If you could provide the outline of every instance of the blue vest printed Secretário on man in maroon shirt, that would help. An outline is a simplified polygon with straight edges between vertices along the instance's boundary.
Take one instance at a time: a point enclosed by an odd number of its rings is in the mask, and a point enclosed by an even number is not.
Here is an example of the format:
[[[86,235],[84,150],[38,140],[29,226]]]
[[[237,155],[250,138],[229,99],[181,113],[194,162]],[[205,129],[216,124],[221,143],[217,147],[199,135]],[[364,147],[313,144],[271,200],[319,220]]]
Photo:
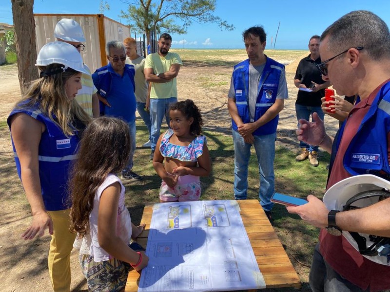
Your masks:
[[[337,137],[338,148],[345,124]],[[390,131],[390,82],[376,95],[356,135],[345,152],[343,165],[351,175],[374,174],[390,179],[388,139]]]

